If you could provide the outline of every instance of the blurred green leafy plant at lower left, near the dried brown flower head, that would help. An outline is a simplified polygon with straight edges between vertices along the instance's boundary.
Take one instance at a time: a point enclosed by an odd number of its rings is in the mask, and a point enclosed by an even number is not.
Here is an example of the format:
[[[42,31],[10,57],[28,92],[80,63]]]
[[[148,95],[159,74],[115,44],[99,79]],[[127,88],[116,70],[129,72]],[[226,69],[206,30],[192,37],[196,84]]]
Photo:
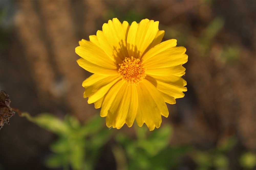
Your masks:
[[[92,169],[97,161],[99,149],[105,145],[113,132],[102,128],[103,119],[98,116],[81,125],[77,118],[70,115],[66,115],[64,120],[49,113],[36,117],[31,117],[28,113],[22,115],[58,135],[57,141],[50,145],[53,154],[46,160],[46,166],[50,168],[69,169],[71,166],[72,169]]]

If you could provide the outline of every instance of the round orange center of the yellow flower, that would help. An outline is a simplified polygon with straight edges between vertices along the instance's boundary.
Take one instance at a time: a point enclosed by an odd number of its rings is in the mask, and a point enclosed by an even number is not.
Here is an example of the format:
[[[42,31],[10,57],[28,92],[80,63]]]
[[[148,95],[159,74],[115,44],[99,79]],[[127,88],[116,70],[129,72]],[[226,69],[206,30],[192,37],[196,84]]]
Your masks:
[[[128,85],[138,84],[145,78],[145,68],[138,58],[125,58],[122,64],[118,64],[118,75],[125,80]]]

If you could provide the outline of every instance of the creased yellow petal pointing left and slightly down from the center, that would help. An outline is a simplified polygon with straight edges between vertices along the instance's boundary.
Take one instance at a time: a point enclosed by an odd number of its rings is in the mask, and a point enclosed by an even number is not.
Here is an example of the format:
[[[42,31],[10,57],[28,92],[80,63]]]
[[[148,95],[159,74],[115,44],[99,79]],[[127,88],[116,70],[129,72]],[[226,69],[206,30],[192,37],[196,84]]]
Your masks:
[[[120,77],[117,75],[91,75],[89,78],[83,81],[82,84],[82,86],[85,87],[84,98],[89,97],[89,104],[100,100],[118,80],[120,80]],[[99,103],[96,105],[96,107],[98,107]]]

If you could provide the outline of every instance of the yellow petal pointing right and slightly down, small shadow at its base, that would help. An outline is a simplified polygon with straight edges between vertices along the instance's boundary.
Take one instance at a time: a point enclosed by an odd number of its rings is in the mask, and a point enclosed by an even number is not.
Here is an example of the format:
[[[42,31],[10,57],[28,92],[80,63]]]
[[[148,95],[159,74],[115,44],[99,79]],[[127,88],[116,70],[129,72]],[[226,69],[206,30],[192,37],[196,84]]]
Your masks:
[[[179,76],[146,76],[145,79],[150,81],[164,95],[165,102],[174,104],[173,99],[184,97],[183,91],[187,91],[184,87],[187,82]],[[168,97],[169,96],[169,97]]]

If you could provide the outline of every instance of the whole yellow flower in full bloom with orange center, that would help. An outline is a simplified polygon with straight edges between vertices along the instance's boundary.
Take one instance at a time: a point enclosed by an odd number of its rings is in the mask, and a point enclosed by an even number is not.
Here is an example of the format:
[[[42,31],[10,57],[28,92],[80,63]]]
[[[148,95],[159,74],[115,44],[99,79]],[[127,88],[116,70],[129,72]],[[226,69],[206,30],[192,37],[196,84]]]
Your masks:
[[[182,64],[188,56],[185,47],[176,47],[177,40],[161,43],[164,31],[159,22],[143,19],[128,24],[117,18],[104,23],[102,31],[79,41],[76,53],[80,67],[93,73],[83,81],[83,97],[100,108],[106,125],[120,129],[145,123],[150,130],[167,117],[166,103],[184,97],[187,82]],[[165,103],[166,102],[166,103]]]

